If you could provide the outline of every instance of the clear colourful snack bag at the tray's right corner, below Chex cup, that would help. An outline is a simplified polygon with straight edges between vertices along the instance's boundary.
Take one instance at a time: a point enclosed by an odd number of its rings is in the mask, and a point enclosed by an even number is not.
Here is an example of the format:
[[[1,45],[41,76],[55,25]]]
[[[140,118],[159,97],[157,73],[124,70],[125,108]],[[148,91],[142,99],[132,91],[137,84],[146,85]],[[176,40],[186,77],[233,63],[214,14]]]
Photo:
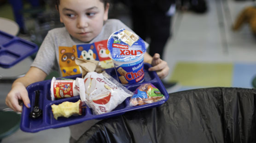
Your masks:
[[[164,95],[151,83],[140,85],[130,99],[130,106],[149,104],[164,100]]]

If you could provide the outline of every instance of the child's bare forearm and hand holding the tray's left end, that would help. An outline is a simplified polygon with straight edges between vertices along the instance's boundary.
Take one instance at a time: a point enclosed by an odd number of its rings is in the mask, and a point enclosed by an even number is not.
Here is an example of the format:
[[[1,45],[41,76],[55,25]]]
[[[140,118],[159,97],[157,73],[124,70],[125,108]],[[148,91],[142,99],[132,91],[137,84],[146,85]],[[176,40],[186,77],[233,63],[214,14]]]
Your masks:
[[[6,105],[14,111],[22,111],[22,106],[19,101],[30,108],[30,101],[26,87],[34,82],[39,82],[45,79],[47,74],[37,67],[30,67],[29,71],[24,77],[20,77],[12,84],[12,89],[6,97]]]

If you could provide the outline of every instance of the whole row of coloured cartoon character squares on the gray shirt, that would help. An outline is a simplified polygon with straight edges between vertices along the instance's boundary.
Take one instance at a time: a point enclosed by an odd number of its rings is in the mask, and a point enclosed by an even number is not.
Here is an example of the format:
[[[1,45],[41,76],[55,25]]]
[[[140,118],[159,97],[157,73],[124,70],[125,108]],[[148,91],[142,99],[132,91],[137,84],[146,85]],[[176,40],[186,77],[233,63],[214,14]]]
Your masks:
[[[76,65],[77,57],[85,60],[99,60],[99,66],[103,68],[114,67],[107,48],[107,41],[103,40],[93,44],[79,44],[72,47],[59,46],[59,66],[62,76],[80,74],[81,69]]]

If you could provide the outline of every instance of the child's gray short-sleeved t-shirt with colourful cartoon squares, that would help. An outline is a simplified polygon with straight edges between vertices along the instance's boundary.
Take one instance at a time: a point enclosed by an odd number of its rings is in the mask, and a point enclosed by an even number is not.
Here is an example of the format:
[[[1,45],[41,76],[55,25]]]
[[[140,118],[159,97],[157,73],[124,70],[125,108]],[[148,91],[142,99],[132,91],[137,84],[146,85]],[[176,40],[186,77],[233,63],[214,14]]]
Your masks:
[[[97,47],[106,47],[106,42],[110,35],[117,30],[125,28],[129,31],[132,31],[121,21],[116,19],[109,19],[105,22],[101,32],[92,41],[89,43],[81,42],[80,40],[71,37],[66,28],[55,28],[48,32],[46,38],[44,39],[41,47],[36,55],[36,58],[31,66],[40,68],[42,71],[49,74],[52,70],[56,70],[60,73],[61,77],[68,76],[67,72],[72,72],[71,75],[79,74],[79,69],[76,69],[74,66],[74,60],[70,60],[69,63],[64,62],[60,56],[67,55],[67,58],[71,58],[70,55],[75,55],[75,57],[81,57],[81,49],[88,48],[93,45],[95,49]],[[140,35],[139,35],[140,36]],[[146,47],[148,44],[145,42]],[[75,50],[75,52],[74,52]],[[94,50],[99,51],[99,49]],[[74,57],[73,57],[74,58]],[[95,60],[106,60],[104,58],[99,58]],[[70,64],[71,65],[68,65]],[[72,65],[73,64],[73,65]],[[67,67],[70,66],[70,67]],[[75,65],[77,66],[77,65]],[[74,70],[76,69],[76,70]],[[76,72],[75,72],[76,71]],[[74,139],[78,139],[87,129],[93,126],[99,120],[89,120],[84,121],[80,124],[70,126],[70,134]]]

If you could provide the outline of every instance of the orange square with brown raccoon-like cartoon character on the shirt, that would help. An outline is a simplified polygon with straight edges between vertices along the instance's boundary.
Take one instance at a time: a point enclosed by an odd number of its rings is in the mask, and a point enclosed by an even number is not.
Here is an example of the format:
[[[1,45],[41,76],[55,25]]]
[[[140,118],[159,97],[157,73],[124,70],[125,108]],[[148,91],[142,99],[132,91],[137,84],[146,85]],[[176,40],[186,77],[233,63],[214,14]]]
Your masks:
[[[59,66],[63,77],[81,73],[80,67],[75,63],[76,57],[76,45],[59,47]]]

